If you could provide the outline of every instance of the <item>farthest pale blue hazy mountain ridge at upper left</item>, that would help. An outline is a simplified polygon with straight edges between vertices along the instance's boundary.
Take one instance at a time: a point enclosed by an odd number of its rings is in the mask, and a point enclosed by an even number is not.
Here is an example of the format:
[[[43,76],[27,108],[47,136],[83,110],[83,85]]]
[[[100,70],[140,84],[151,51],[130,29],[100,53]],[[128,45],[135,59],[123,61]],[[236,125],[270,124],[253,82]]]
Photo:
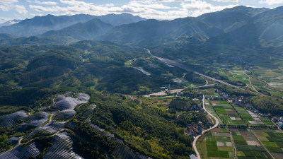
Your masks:
[[[134,23],[144,20],[144,18],[132,16],[131,14],[126,13],[120,15],[109,14],[105,16],[91,16],[86,14],[74,16],[35,16],[35,18],[25,19],[13,25],[3,26],[0,28],[0,33],[17,35],[19,37],[40,35],[49,30],[60,30],[76,23],[86,23],[88,20],[93,18],[98,18],[105,23],[110,23],[111,25]]]

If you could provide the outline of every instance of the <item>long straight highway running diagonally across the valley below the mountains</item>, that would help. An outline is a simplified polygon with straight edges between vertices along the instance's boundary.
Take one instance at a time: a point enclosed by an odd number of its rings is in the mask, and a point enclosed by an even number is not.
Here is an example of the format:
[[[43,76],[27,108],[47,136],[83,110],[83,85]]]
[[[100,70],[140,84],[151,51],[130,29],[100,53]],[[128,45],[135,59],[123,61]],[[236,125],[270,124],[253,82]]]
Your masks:
[[[154,56],[154,55],[151,54],[151,52],[149,51],[149,49],[146,49],[146,50],[147,50],[147,52],[148,52],[152,57],[156,57],[156,56]],[[192,71],[193,73],[196,73],[197,75],[200,75],[200,76],[202,76],[202,77],[204,77],[204,78],[208,78],[208,79],[210,79],[210,80],[212,80],[212,81],[216,81],[216,82],[222,83],[222,84],[224,84],[224,85],[231,86],[231,87],[233,87],[233,88],[243,89],[243,88],[241,88],[241,87],[233,86],[233,85],[231,85],[231,84],[229,84],[229,83],[226,83],[226,82],[224,82],[224,81],[218,80],[218,79],[216,79],[216,78],[209,77],[209,76],[204,75],[204,74],[202,74],[202,73],[200,73],[200,72],[193,71],[193,70],[190,69],[188,66],[185,66],[184,64],[180,64],[180,63],[178,63],[178,62],[176,62],[176,61],[173,61],[173,60],[171,60],[171,59],[164,59],[164,58],[162,58],[162,57],[156,57],[156,58],[159,59],[160,61],[163,61],[165,64],[170,64],[170,65],[172,65],[172,66],[178,66],[178,67],[180,67],[181,69],[185,69],[186,71]]]

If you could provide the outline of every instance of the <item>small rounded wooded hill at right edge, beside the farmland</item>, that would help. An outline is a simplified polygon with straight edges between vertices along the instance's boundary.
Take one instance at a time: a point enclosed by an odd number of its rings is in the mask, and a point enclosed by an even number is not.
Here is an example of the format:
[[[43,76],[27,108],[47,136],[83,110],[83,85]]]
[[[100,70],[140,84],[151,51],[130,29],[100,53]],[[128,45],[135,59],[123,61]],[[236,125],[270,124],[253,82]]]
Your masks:
[[[283,114],[283,100],[270,96],[257,96],[251,98],[253,107],[260,110],[260,112],[270,113],[274,115]]]

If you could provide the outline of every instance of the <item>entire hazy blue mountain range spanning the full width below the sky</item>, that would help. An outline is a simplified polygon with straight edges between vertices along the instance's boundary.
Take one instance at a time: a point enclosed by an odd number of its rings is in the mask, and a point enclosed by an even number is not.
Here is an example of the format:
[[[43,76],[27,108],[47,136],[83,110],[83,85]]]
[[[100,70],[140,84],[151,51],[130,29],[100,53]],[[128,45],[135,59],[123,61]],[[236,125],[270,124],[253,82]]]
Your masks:
[[[79,40],[109,40],[139,46],[172,42],[281,46],[283,7],[274,9],[236,6],[215,13],[175,20],[145,20],[127,13],[107,16],[43,16],[0,28],[1,44],[60,44]],[[21,37],[15,39],[14,36]],[[37,37],[28,37],[37,36]],[[23,38],[27,37],[27,38]],[[33,41],[33,39],[35,41]],[[30,43],[29,43],[30,42]]]

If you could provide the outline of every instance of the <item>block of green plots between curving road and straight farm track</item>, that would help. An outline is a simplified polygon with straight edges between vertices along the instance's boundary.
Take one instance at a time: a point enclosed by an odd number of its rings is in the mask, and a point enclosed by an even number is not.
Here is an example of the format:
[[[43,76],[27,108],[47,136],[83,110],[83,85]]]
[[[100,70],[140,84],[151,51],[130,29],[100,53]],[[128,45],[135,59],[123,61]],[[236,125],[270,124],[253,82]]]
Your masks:
[[[202,158],[233,158],[233,146],[228,130],[213,129],[197,141]]]

